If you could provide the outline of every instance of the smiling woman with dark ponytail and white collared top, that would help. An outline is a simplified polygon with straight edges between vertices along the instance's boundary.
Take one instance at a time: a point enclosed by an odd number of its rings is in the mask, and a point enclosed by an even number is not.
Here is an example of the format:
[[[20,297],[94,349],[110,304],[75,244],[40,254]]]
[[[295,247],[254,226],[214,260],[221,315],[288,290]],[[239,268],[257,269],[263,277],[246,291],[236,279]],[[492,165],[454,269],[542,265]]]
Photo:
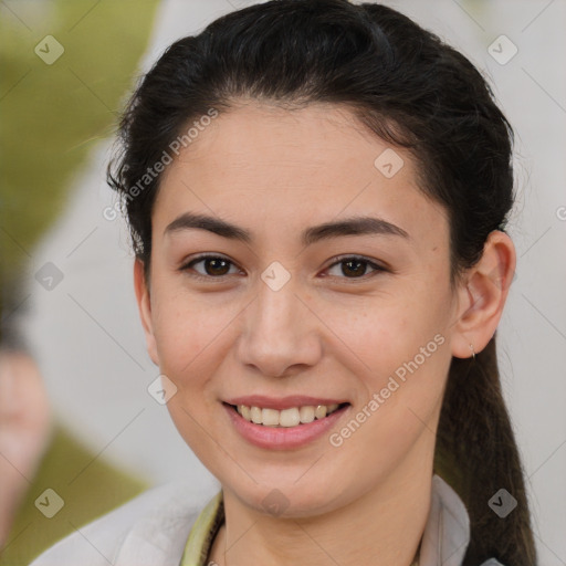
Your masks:
[[[512,129],[390,8],[253,6],[172,44],[109,168],[156,391],[221,483],[44,564],[533,565],[495,332]]]

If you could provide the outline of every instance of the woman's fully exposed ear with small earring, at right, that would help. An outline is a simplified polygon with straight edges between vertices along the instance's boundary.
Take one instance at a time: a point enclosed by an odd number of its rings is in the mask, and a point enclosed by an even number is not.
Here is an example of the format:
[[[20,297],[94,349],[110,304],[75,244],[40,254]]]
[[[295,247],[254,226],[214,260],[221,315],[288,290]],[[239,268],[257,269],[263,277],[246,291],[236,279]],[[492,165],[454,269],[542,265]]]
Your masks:
[[[451,337],[452,355],[469,358],[495,334],[516,265],[511,238],[494,230],[488,237],[480,261],[470,268],[459,287],[459,311]],[[473,350],[472,350],[473,347]]]

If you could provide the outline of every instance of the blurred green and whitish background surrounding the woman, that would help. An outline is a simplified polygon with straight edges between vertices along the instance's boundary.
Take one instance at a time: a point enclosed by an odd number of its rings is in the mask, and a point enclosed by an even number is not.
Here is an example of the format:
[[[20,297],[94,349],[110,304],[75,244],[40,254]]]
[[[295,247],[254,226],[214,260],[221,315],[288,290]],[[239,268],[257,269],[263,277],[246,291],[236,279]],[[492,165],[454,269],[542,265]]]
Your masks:
[[[187,478],[196,503],[218,490],[167,408],[148,394],[159,371],[145,349],[127,229],[105,167],[117,115],[139,75],[174,40],[250,3],[0,2],[1,324],[10,328],[7,344],[35,360],[56,430],[83,450],[69,461],[70,452],[53,453],[51,472],[38,461],[20,473],[29,492],[1,564],[27,564],[22,548],[39,533],[46,535],[36,552],[88,518],[80,507],[96,516],[146,486]],[[566,565],[566,1],[382,3],[479,66],[515,128],[517,203],[509,231],[518,261],[499,356],[541,564]],[[0,408],[10,395],[0,387]],[[0,471],[10,465],[1,439]],[[40,465],[43,481],[32,483]],[[88,495],[101,478],[107,500]],[[64,500],[56,516],[66,516],[51,533],[55,517],[48,521],[38,503],[49,488]]]

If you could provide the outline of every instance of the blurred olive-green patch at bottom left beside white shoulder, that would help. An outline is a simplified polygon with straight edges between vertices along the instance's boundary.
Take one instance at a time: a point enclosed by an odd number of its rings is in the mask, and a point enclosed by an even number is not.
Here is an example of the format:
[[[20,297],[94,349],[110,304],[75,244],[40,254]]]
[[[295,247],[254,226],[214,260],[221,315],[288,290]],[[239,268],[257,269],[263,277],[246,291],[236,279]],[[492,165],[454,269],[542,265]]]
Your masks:
[[[55,424],[51,443],[0,554],[0,566],[28,566],[75,528],[122,505],[148,486],[145,480],[104,461],[104,457],[97,457],[61,424]],[[56,495],[44,494],[48,489]],[[60,504],[57,496],[63,500],[63,506],[48,518],[41,510],[50,506],[55,510]]]

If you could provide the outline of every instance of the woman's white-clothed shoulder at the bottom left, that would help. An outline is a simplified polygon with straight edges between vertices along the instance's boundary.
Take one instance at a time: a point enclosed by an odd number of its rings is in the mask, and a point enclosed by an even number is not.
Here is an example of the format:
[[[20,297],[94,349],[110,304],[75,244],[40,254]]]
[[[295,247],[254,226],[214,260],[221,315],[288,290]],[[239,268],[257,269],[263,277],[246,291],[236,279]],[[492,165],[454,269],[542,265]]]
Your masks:
[[[200,512],[190,493],[179,482],[147,490],[76,528],[30,566],[177,566]]]

